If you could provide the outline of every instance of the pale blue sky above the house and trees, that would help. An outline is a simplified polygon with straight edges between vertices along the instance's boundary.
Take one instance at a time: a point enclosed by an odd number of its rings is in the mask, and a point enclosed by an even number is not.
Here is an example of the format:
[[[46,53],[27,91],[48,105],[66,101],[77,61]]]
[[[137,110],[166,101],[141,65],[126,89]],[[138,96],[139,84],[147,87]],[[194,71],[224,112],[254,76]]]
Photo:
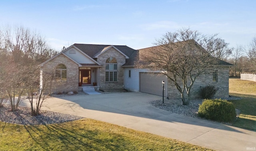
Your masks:
[[[74,43],[153,46],[183,28],[246,46],[256,36],[256,0],[2,0],[0,25],[40,32],[52,48]]]

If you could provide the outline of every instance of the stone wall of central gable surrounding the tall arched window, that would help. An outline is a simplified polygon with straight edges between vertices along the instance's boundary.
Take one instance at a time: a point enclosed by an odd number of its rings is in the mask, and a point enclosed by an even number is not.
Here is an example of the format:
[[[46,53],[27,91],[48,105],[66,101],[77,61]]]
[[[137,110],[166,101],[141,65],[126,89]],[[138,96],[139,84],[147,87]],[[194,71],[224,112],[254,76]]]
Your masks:
[[[109,57],[114,57],[117,60],[117,81],[113,82],[106,82],[105,81],[105,64],[106,60]],[[103,68],[100,68],[100,89],[106,90],[106,89],[123,89],[124,85],[124,68],[122,68],[122,65],[125,64],[126,58],[124,55],[122,55],[120,52],[118,52],[114,48],[110,48],[100,56],[98,56],[97,59],[98,63],[100,63]]]

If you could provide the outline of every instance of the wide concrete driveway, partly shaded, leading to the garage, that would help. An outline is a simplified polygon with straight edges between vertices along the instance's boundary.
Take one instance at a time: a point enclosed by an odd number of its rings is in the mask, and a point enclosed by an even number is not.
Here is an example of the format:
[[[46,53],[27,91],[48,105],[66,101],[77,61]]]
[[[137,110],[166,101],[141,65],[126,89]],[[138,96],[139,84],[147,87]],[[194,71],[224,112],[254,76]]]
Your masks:
[[[42,109],[96,119],[221,151],[246,151],[247,147],[256,147],[255,131],[178,115],[149,104],[161,98],[140,92],[74,95],[46,99]]]

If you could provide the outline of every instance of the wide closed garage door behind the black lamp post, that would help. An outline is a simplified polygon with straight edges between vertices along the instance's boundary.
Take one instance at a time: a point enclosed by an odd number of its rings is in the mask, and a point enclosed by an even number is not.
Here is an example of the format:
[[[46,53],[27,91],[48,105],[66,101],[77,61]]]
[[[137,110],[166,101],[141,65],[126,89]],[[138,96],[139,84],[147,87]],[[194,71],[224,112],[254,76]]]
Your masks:
[[[162,81],[166,81],[166,76],[157,73],[140,72],[140,91],[154,95],[163,95]],[[164,89],[166,89],[164,85]],[[166,90],[164,90],[166,96]]]

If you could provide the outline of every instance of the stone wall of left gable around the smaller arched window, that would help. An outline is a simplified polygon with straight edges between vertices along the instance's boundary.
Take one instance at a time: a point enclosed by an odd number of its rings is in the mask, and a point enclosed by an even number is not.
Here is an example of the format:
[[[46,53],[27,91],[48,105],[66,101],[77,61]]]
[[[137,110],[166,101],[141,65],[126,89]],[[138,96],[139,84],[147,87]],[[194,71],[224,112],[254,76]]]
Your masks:
[[[43,67],[44,72],[55,72],[56,66],[58,64],[64,64],[67,68],[67,81],[66,82],[56,82],[52,83],[52,89],[47,89],[46,92],[58,93],[58,92],[68,92],[68,91],[78,91],[79,82],[79,70],[78,64],[74,63],[72,60],[60,54],[56,58],[50,60]]]

